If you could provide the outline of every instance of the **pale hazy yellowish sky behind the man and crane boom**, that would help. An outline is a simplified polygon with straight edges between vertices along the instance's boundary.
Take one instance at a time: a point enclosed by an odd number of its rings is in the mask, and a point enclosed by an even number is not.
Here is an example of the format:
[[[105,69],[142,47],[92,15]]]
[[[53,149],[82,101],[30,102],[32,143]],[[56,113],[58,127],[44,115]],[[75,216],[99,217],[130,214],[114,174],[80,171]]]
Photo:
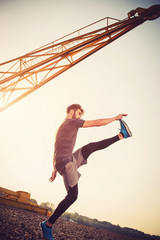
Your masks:
[[[0,62],[21,56],[104,17],[124,19],[159,0],[0,0]],[[133,137],[96,152],[79,171],[78,200],[68,209],[160,235],[160,18],[147,21],[0,113],[0,186],[38,203],[64,198],[52,173],[54,137],[68,105],[84,120],[124,119]],[[75,150],[119,133],[115,121],[80,129]]]

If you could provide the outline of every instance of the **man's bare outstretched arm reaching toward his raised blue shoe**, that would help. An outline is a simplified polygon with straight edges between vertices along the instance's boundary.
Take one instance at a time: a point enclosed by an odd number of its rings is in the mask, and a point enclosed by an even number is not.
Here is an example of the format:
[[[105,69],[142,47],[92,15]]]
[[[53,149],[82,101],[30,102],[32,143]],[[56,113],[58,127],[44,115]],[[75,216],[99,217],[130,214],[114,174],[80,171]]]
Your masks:
[[[104,118],[104,119],[96,119],[96,120],[91,120],[91,121],[85,121],[83,124],[83,128],[87,128],[87,127],[100,127],[100,126],[104,126],[107,125],[111,122],[114,122],[115,120],[120,120],[123,117],[126,117],[127,114],[119,114],[116,117],[113,118]]]

